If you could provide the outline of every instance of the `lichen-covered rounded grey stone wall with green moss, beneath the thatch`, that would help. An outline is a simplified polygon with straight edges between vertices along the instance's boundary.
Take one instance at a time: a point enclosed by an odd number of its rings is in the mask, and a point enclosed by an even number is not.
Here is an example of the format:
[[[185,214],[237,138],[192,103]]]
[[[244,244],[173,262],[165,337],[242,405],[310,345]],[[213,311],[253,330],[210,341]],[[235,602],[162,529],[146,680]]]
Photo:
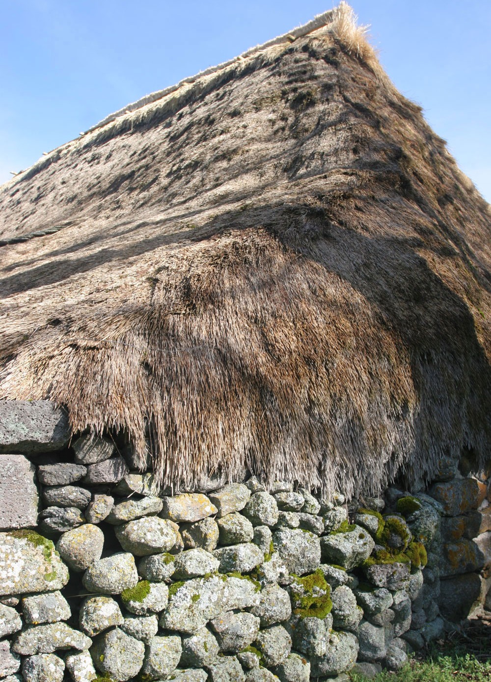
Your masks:
[[[491,598],[490,480],[466,458],[349,508],[255,477],[170,494],[124,444],[70,441],[52,404],[5,401],[0,453],[9,682],[395,670]]]

